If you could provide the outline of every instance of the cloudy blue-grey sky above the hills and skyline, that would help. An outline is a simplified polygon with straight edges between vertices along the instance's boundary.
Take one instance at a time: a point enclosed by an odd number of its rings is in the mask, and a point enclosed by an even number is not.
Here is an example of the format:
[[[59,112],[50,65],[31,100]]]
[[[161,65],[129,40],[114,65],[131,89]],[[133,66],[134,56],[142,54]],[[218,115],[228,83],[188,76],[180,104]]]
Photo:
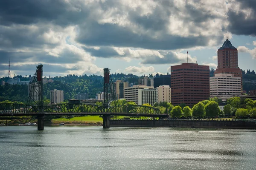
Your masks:
[[[256,0],[1,0],[0,77],[215,69],[227,38],[256,70]]]

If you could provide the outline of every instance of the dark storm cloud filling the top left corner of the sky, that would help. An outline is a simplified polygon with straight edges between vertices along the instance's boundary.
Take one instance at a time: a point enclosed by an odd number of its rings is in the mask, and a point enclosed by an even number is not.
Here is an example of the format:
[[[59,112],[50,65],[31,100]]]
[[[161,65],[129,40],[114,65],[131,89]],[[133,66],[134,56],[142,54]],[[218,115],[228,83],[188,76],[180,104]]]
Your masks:
[[[73,3],[72,3],[73,2]],[[71,10],[77,9],[77,10]],[[67,26],[85,17],[75,1],[66,3],[64,0],[1,0],[1,25],[25,24],[53,21],[58,25]]]

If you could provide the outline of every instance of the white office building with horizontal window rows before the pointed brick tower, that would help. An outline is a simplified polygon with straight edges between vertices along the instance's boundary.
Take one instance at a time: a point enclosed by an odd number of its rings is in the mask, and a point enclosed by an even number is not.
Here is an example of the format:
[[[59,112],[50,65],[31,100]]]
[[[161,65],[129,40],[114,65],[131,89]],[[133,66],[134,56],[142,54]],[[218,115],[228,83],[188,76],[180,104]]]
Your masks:
[[[218,97],[222,102],[241,95],[241,77],[233,74],[215,74],[210,77],[210,97]]]

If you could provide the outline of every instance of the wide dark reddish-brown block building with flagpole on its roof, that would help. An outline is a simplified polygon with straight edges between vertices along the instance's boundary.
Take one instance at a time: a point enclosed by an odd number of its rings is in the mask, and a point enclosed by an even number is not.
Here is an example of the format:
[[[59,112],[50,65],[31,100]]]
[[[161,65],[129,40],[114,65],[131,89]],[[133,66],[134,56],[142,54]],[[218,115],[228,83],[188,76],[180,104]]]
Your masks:
[[[188,106],[209,99],[209,65],[182,63],[171,66],[172,105]]]

